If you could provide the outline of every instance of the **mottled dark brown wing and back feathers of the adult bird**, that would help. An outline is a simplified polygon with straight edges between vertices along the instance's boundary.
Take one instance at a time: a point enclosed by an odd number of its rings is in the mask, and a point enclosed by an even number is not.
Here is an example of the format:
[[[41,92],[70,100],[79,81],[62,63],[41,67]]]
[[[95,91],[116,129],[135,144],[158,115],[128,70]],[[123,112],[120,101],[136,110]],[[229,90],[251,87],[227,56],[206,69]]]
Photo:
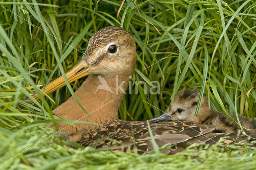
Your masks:
[[[150,124],[150,128],[158,147],[167,147],[166,150],[162,151],[164,154],[181,152],[193,143],[215,144],[224,136],[237,138],[236,133],[214,133],[215,126],[213,125],[191,122],[158,122]],[[227,144],[232,142],[232,140],[227,141]],[[78,143],[94,148],[113,147],[113,152],[130,152],[133,150],[138,154],[144,154],[154,150],[146,122],[116,120],[99,128],[95,133],[84,133],[83,138]]]

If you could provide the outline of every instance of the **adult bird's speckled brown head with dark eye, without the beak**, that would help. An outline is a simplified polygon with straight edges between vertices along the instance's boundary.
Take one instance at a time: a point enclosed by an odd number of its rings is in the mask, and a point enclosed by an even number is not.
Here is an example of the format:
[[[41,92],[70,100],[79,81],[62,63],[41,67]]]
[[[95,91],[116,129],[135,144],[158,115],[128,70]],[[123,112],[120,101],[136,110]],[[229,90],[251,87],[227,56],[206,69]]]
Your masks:
[[[96,32],[89,41],[81,62],[94,74],[126,74],[134,70],[136,44],[124,28],[108,26]]]

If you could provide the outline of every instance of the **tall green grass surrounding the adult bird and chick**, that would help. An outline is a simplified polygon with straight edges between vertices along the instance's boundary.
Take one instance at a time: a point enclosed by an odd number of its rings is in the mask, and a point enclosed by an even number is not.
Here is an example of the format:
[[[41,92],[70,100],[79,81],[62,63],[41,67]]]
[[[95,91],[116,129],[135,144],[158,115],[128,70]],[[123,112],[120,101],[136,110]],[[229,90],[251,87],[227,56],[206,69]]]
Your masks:
[[[54,134],[51,110],[71,93],[64,87],[26,104],[40,88],[76,64],[89,38],[105,26],[135,38],[132,94],[119,113],[148,120],[166,110],[178,90],[198,88],[211,108],[254,118],[256,112],[256,1],[5,1],[0,2],[0,169],[256,169],[246,143],[188,148],[173,156],[80,148]],[[73,90],[84,79],[71,83]],[[147,82],[146,94],[140,80]],[[149,94],[151,81],[160,94]],[[139,93],[135,93],[135,83]],[[22,103],[25,108],[17,108]],[[242,158],[243,157],[243,158]]]

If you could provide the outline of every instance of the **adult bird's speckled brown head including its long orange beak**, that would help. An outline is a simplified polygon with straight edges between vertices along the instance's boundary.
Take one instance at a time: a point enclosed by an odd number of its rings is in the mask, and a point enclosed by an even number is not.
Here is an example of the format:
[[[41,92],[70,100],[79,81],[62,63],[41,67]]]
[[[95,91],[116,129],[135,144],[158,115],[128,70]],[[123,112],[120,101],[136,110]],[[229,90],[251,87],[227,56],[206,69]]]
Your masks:
[[[68,82],[73,82],[88,74],[132,75],[135,62],[136,44],[132,35],[122,27],[108,26],[90,38],[82,60],[66,73],[66,77]],[[60,76],[42,90],[49,94],[65,85],[64,77]]]

